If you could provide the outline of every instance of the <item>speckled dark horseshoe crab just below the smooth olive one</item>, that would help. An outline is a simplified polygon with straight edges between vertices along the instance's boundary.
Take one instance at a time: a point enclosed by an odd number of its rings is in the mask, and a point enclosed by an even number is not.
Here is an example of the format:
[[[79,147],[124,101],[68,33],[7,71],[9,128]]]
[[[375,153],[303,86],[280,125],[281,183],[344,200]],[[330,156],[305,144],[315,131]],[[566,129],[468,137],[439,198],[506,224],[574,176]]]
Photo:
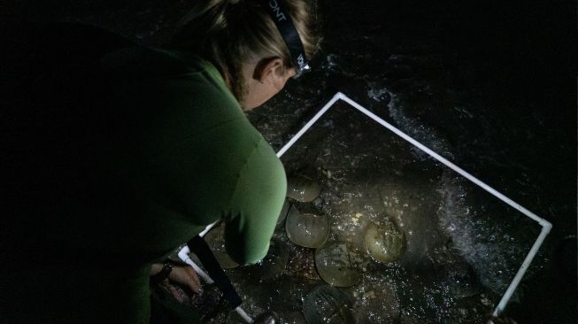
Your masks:
[[[315,266],[321,279],[328,284],[350,287],[361,279],[367,260],[351,243],[335,242],[315,251]]]

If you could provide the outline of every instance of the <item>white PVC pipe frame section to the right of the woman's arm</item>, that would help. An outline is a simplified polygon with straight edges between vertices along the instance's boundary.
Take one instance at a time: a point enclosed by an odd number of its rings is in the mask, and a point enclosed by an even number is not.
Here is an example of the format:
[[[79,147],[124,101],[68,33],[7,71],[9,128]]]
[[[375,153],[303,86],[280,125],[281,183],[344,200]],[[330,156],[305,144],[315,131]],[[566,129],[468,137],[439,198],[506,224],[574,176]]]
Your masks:
[[[449,160],[447,160],[446,158],[443,158],[442,156],[440,156],[439,154],[435,153],[433,150],[429,150],[426,146],[424,146],[423,144],[419,143],[418,141],[414,140],[412,137],[410,137],[409,135],[406,135],[404,132],[400,131],[399,129],[397,129],[396,127],[393,127],[391,124],[389,124],[388,122],[386,122],[385,120],[381,120],[381,118],[379,118],[378,116],[376,116],[373,112],[368,111],[366,108],[362,107],[361,105],[359,105],[358,103],[354,102],[353,100],[351,100],[348,96],[343,95],[343,93],[341,92],[337,92],[335,94],[335,96],[333,96],[333,98],[331,100],[329,100],[329,102],[327,104],[325,104],[323,106],[323,108],[321,108],[321,110],[319,112],[317,112],[315,114],[315,116],[313,116],[313,118],[311,120],[309,120],[305,126],[303,128],[301,128],[301,130],[299,130],[297,132],[296,135],[294,135],[291,140],[289,141],[289,143],[285,144],[281,150],[279,150],[277,152],[277,157],[281,158],[281,156],[283,154],[285,154],[285,152],[287,150],[289,150],[289,148],[291,146],[293,146],[293,144],[295,144],[297,142],[297,140],[304,135],[304,133],[310,128],[312,127],[312,125],[320,119],[320,117],[328,111],[329,108],[331,108],[331,106],[333,104],[335,104],[335,102],[337,102],[337,100],[343,100],[344,102],[346,102],[347,104],[351,104],[351,106],[353,106],[353,108],[357,109],[359,112],[363,112],[364,114],[366,114],[366,116],[368,116],[369,118],[371,118],[372,120],[375,120],[377,123],[379,123],[381,126],[388,128],[390,131],[394,132],[396,135],[399,135],[401,138],[405,139],[405,141],[412,143],[414,146],[416,146],[418,149],[423,150],[424,152],[428,153],[429,156],[431,156],[432,158],[435,158],[436,160],[442,162],[445,166],[450,167],[453,171],[457,172],[458,174],[463,175],[464,177],[466,177],[468,180],[474,182],[476,185],[482,187],[482,189],[488,191],[490,194],[494,195],[495,197],[497,197],[498,199],[502,200],[503,202],[505,202],[505,204],[509,204],[511,205],[513,208],[517,209],[519,212],[523,213],[524,215],[528,216],[530,219],[532,220],[536,220],[536,222],[538,222],[538,224],[540,224],[542,226],[542,231],[540,232],[540,235],[538,235],[538,237],[536,238],[536,242],[532,245],[532,248],[530,249],[530,251],[528,252],[528,255],[526,256],[526,258],[524,259],[524,261],[522,262],[520,269],[518,270],[518,273],[516,273],[516,275],[513,277],[512,282],[510,283],[510,286],[508,287],[508,289],[505,290],[504,296],[502,297],[502,299],[500,300],[500,302],[498,303],[498,305],[496,306],[496,309],[494,310],[494,312],[492,313],[493,316],[498,316],[501,312],[504,311],[505,309],[505,305],[507,305],[508,301],[510,300],[510,297],[512,297],[512,294],[514,292],[514,290],[518,287],[518,284],[520,283],[522,277],[524,276],[524,274],[526,273],[526,270],[528,269],[528,266],[530,265],[530,263],[532,262],[532,259],[534,259],[534,257],[536,256],[536,253],[538,251],[538,249],[540,249],[540,246],[543,243],[543,240],[546,238],[546,235],[548,235],[548,233],[550,233],[550,230],[552,228],[551,223],[548,220],[544,220],[543,218],[538,217],[535,213],[528,211],[528,209],[524,208],[522,205],[514,202],[512,199],[505,197],[503,194],[501,194],[500,192],[498,192],[496,189],[493,189],[491,187],[489,187],[489,185],[487,185],[486,183],[480,181],[479,179],[477,179],[476,177],[474,177],[474,175],[472,174],[468,174],[466,171],[464,171],[463,169],[461,169],[459,166],[454,165],[453,163],[451,163]],[[489,321],[489,323],[491,323],[491,320]]]

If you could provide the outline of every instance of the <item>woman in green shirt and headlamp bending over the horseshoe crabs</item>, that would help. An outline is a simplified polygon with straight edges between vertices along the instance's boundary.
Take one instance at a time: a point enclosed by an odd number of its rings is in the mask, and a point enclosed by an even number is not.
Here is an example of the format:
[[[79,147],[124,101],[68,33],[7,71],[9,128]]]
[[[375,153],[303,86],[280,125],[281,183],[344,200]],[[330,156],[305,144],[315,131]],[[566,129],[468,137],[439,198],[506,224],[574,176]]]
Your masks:
[[[243,110],[308,68],[309,12],[208,1],[162,50],[89,27],[6,33],[8,318],[149,322],[171,308],[150,312],[149,275],[198,289],[158,261],[216,220],[236,262],[266,255],[286,180]]]

